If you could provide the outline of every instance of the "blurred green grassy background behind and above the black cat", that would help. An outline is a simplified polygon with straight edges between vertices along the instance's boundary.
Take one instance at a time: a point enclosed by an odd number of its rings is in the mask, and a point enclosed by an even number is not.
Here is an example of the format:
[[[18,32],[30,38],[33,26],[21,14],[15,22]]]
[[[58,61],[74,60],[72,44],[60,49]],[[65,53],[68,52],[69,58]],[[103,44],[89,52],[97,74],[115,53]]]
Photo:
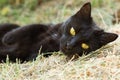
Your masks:
[[[91,1],[92,16],[98,25],[112,25],[112,14],[120,8],[120,0],[0,0],[0,23],[62,22],[87,1]]]

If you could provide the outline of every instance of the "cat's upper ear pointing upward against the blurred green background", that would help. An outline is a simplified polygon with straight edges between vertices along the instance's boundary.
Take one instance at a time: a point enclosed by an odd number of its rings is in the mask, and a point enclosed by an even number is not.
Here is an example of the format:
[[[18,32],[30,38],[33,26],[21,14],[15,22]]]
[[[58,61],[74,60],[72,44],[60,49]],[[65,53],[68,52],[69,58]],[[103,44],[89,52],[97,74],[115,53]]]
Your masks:
[[[82,8],[75,14],[83,20],[91,19],[91,3],[88,2],[82,6]]]

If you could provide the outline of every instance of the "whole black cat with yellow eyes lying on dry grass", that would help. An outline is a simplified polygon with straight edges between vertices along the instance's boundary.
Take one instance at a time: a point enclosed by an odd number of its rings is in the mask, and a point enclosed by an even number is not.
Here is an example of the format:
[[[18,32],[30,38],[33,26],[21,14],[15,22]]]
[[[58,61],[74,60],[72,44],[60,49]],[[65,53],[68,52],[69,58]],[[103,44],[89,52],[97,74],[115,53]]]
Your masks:
[[[7,31],[4,32],[3,27]],[[60,50],[68,58],[73,55],[82,56],[83,53],[88,54],[118,37],[117,34],[104,32],[97,27],[91,17],[89,2],[63,23],[16,27],[14,24],[0,25],[0,31],[4,32],[0,36],[0,61],[5,61],[7,55],[11,61],[16,61],[16,58],[21,62],[33,60],[40,48],[42,52]]]

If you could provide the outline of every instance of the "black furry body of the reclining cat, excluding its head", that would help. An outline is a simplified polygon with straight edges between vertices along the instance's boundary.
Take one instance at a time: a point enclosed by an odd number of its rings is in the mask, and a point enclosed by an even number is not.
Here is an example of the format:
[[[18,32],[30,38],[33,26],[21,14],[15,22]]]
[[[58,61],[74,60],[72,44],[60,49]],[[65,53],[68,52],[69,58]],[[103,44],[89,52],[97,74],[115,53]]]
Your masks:
[[[1,34],[0,60],[5,61],[6,55],[9,59],[21,62],[33,60],[37,57],[39,50],[41,52],[53,52],[59,50],[60,35],[58,29],[61,24],[44,25],[31,24],[24,27],[14,28],[14,24],[7,24],[13,28],[6,33]],[[6,24],[0,26],[0,31],[5,28]],[[3,31],[4,32],[4,31]],[[15,34],[14,34],[15,33]]]

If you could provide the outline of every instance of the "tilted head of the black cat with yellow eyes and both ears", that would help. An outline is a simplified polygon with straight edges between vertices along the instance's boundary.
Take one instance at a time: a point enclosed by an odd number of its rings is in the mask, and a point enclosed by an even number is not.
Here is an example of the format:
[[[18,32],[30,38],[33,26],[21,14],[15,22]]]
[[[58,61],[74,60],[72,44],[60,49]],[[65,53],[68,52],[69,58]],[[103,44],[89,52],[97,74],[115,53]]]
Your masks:
[[[67,56],[88,54],[118,37],[97,27],[91,17],[89,2],[63,23],[61,32],[60,50]]]

